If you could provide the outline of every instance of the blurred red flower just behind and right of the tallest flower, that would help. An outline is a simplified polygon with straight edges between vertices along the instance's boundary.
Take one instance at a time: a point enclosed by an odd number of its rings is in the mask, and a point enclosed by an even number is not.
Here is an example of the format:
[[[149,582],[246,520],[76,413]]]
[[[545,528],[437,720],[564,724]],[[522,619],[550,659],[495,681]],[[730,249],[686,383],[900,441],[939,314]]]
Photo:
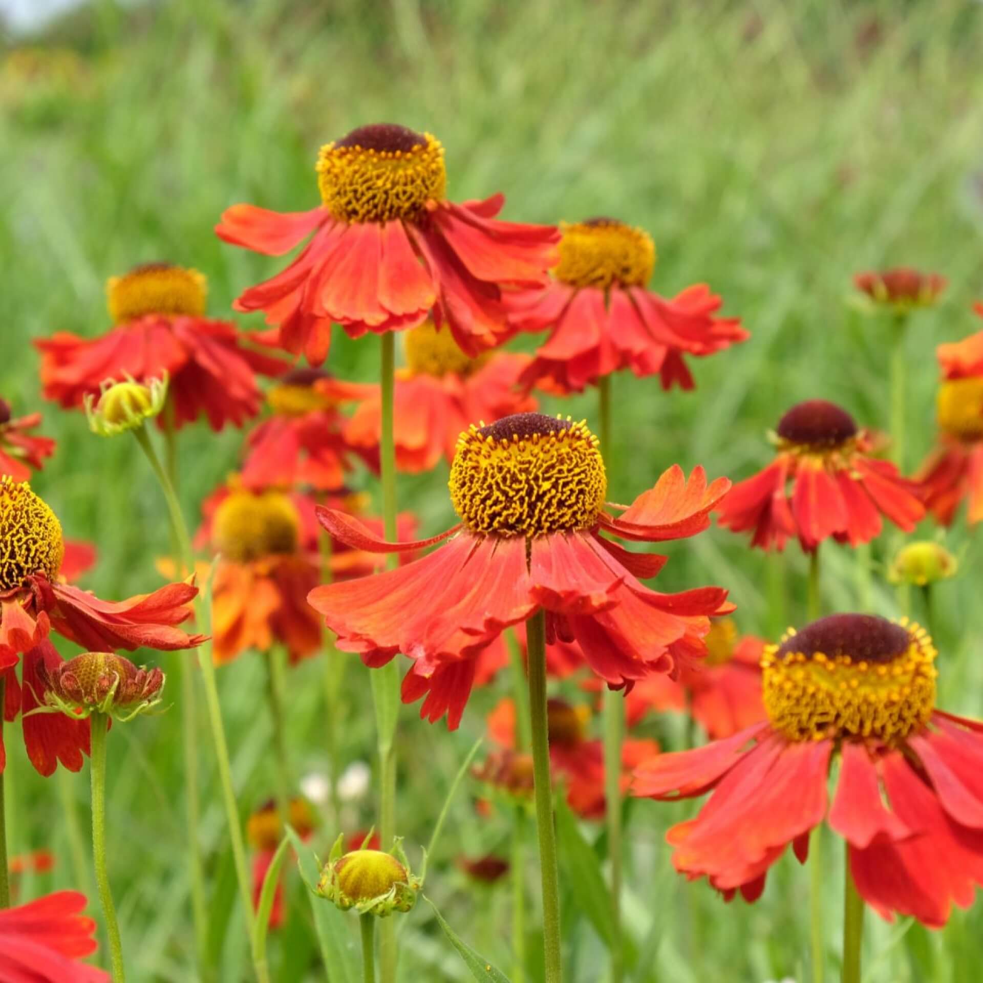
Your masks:
[[[738,318],[718,318],[721,298],[704,284],[671,300],[646,289],[656,263],[652,237],[613,218],[561,225],[559,262],[547,286],[508,298],[523,331],[549,338],[523,373],[527,385],[548,378],[580,392],[630,369],[693,388],[684,354],[712,355],[750,335]]]

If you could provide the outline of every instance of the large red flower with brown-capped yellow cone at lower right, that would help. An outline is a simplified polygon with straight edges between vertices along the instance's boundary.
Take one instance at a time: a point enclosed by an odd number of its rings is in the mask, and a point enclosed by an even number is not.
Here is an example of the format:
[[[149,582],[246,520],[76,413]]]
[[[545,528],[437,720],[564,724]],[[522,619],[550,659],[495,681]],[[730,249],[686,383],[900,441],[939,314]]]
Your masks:
[[[668,832],[676,869],[754,900],[785,847],[804,862],[828,819],[860,896],[885,918],[941,927],[953,903],[968,907],[983,884],[983,723],[936,709],[935,658],[917,625],[867,614],[821,618],[770,646],[767,721],[635,774],[636,795],[713,791]]]

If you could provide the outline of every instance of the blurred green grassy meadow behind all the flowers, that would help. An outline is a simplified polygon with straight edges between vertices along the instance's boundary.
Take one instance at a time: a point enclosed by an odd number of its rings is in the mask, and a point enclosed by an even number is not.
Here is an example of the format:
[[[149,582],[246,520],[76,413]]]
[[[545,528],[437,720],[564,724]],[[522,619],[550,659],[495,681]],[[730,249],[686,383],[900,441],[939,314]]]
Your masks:
[[[45,49],[29,73],[13,57],[25,45]],[[861,424],[886,428],[891,324],[850,305],[857,270],[905,263],[950,280],[943,303],[913,318],[906,341],[910,467],[933,440],[936,344],[983,328],[970,313],[983,297],[979,3],[176,0],[124,9],[100,2],[37,36],[8,37],[6,47],[0,394],[15,414],[44,410],[42,431],[59,449],[34,487],[67,535],[97,544],[99,564],[86,584],[104,597],[159,583],[154,560],[168,542],[163,502],[132,440],[100,439],[81,415],[41,406],[31,339],[106,330],[106,277],[148,260],[201,269],[211,313],[225,316],[244,286],[282,261],[221,244],[211,231],[221,210],[240,201],[313,206],[318,146],[365,123],[433,132],[446,148],[455,200],[500,190],[506,218],[606,214],[644,226],[660,255],[653,289],[672,294],[706,280],[723,294],[724,313],[751,330],[746,344],[694,366],[695,392],[666,395],[652,379],[615,379],[614,500],[630,500],[675,461],[746,477],[768,460],[766,431],[801,399],[836,400]],[[260,326],[259,318],[242,323]],[[374,339],[351,342],[339,332],[332,371],[372,379],[376,362]],[[571,402],[564,412],[593,417],[592,393]],[[202,496],[235,467],[240,443],[241,434],[215,436],[203,426],[182,434],[190,517],[197,520]],[[427,530],[450,519],[445,480],[442,469],[400,480],[401,506]],[[362,485],[375,491],[371,481]],[[936,535],[928,524],[924,534]],[[983,565],[961,520],[947,544],[961,553],[962,573],[939,591],[940,702],[980,714]],[[886,549],[875,548],[878,562]],[[714,529],[668,551],[660,587],[729,587],[744,631],[774,634],[801,617],[797,549],[789,550],[792,606],[784,613],[769,605],[765,558],[742,539]],[[854,607],[852,555],[826,552],[827,607]],[[878,605],[896,613],[894,592],[879,589]],[[171,658],[181,657],[163,665]],[[327,767],[317,662],[291,676],[300,774]],[[242,658],[221,672],[220,684],[245,813],[272,781],[260,661]],[[365,670],[351,666],[348,686],[343,757],[371,761]],[[443,724],[419,723],[414,708],[404,710],[400,826],[412,858],[500,692],[479,694],[449,736]],[[678,724],[653,732],[671,744]],[[13,727],[8,740],[19,740]],[[22,753],[11,758],[12,852],[46,846],[59,861],[23,891],[75,886],[92,896],[73,871],[66,818],[74,815],[87,836],[85,776],[40,780]],[[202,768],[211,789],[206,746]],[[110,873],[139,981],[194,978],[181,788],[176,714],[114,728]],[[479,819],[470,804],[477,793],[469,781],[456,800],[428,891],[464,938],[506,967],[507,889],[479,890],[452,862],[458,852],[505,848],[505,817]],[[662,838],[685,812],[647,801],[631,809],[626,917],[640,953],[632,978],[803,980],[806,872],[785,858],[761,902],[725,906],[671,871]],[[371,816],[367,799],[351,807],[349,822],[366,826]],[[585,827],[592,840],[599,833]],[[326,852],[332,838],[322,831],[318,847]],[[220,908],[233,887],[217,795],[208,798],[202,842]],[[832,978],[841,892],[832,839],[826,856]],[[531,891],[536,877],[530,868]],[[282,981],[321,978],[304,975],[313,942],[296,880],[289,927],[271,943]],[[595,980],[605,952],[578,890],[565,884],[569,978]],[[247,978],[238,918],[233,912],[222,955],[221,979],[233,983]],[[980,912],[957,913],[942,935],[869,916],[865,979],[974,978],[981,928]],[[529,929],[535,965],[535,916]],[[426,905],[406,920],[402,939],[407,983],[466,978]]]

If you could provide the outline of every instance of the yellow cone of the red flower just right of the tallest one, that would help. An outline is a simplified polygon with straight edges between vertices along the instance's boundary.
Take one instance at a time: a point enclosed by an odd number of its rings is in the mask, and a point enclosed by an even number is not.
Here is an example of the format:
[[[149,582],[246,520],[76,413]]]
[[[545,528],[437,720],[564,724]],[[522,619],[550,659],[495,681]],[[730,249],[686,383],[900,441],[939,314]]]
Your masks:
[[[613,218],[560,222],[557,280],[574,287],[644,287],[656,267],[656,244],[644,229]]]

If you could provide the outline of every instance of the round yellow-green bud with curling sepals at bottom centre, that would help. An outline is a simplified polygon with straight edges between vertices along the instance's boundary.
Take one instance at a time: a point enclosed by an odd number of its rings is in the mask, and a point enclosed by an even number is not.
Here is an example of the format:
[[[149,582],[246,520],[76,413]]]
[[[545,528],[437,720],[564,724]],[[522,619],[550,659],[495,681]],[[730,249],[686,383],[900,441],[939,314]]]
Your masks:
[[[342,835],[331,847],[318,882],[318,895],[343,911],[355,908],[360,914],[380,918],[413,907],[422,882],[410,871],[398,840],[389,853],[365,845],[342,853],[343,844]]]

